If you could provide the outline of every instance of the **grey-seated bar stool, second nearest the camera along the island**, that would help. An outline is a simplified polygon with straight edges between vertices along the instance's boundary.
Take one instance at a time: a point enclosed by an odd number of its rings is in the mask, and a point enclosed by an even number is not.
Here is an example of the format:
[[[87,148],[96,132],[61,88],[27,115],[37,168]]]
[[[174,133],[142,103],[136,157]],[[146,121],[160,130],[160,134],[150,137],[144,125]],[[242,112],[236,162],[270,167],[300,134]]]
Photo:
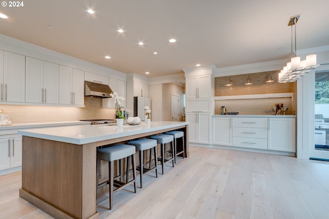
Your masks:
[[[130,141],[128,144],[132,144],[136,147],[136,151],[139,151],[139,166],[136,168],[136,170],[139,171],[140,174],[140,188],[143,186],[143,174],[149,172],[150,170],[155,169],[155,175],[158,177],[158,165],[157,165],[157,152],[156,152],[156,146],[157,141],[155,139],[139,139],[135,141]],[[152,149],[154,151],[154,164],[155,167],[151,168],[151,161],[152,161]],[[144,165],[144,152],[150,150],[150,161],[149,161],[149,169],[145,169]]]

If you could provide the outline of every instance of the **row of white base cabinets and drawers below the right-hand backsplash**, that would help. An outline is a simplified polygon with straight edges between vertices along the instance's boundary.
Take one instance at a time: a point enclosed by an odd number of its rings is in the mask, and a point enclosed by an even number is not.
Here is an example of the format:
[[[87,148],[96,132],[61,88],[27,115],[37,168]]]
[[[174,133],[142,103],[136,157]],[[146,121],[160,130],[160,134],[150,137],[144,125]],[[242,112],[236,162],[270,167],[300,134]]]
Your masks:
[[[296,118],[214,116],[212,144],[296,153]]]

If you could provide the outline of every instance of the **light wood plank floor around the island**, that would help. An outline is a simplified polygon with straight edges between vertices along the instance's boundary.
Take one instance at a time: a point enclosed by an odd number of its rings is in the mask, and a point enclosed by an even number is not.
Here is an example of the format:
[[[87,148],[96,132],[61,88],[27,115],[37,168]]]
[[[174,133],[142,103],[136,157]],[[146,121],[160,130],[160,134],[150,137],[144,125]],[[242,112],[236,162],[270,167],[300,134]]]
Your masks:
[[[100,218],[329,218],[325,161],[190,147],[189,158],[153,175],[137,194],[115,193],[111,211],[104,189]],[[0,218],[51,218],[21,199],[20,187],[21,172],[0,176]]]

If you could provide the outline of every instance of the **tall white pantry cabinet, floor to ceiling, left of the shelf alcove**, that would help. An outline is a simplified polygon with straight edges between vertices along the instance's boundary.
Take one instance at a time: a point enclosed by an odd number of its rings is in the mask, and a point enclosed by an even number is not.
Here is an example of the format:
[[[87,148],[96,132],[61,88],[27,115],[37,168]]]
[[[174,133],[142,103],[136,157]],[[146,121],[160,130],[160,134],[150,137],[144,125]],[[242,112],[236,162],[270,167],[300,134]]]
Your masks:
[[[186,78],[186,121],[189,124],[189,142],[211,144],[211,116],[214,113],[214,67],[184,69]]]

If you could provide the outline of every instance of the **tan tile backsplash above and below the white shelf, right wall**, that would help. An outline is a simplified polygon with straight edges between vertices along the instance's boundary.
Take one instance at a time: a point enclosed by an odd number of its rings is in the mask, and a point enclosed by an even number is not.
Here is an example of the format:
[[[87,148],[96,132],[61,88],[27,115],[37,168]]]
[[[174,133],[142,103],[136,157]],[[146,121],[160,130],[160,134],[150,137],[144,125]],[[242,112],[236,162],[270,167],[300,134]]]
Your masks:
[[[282,103],[283,106],[288,107],[287,115],[297,114],[297,83],[278,83],[278,72],[266,71],[216,77],[215,97],[276,93],[293,93],[293,97],[215,100],[215,114],[221,114],[221,106],[225,106],[227,112],[236,111],[241,115],[272,115],[271,107],[276,103]],[[274,82],[265,82],[268,74]],[[245,85],[248,76],[251,79],[251,85]],[[233,85],[225,86],[229,79],[233,81]]]

